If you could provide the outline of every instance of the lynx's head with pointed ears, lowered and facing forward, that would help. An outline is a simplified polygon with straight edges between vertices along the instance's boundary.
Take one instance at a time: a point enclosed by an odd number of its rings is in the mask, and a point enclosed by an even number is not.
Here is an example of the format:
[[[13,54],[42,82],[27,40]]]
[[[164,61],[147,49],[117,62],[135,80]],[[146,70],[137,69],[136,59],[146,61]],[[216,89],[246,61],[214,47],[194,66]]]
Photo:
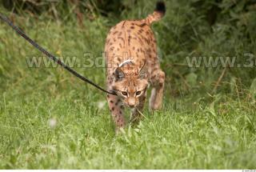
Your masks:
[[[124,106],[134,108],[145,99],[149,83],[144,66],[141,69],[134,65],[119,66],[114,70],[112,90],[122,99]]]

